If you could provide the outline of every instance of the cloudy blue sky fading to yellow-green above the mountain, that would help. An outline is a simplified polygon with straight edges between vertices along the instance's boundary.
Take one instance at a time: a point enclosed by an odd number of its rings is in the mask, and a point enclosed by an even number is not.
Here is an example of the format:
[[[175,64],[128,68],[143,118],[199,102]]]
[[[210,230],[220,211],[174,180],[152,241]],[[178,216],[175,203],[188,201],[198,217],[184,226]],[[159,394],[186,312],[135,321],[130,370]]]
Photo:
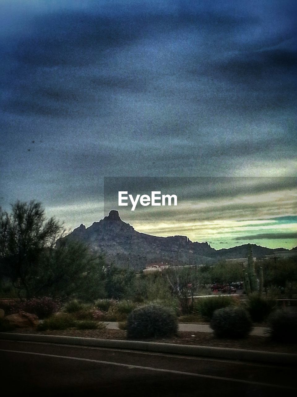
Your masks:
[[[123,220],[216,249],[297,245],[294,0],[0,8],[4,210],[41,201],[71,230],[103,217],[104,177],[182,177],[177,208]]]

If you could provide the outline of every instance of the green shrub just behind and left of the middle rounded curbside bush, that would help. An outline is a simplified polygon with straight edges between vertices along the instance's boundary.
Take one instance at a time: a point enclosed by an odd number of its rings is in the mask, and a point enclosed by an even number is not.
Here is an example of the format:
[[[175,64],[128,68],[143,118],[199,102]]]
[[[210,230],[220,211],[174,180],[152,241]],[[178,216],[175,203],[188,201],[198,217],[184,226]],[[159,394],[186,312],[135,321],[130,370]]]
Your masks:
[[[194,301],[194,312],[197,312],[205,320],[210,321],[213,312],[234,304],[233,297],[214,296],[209,298],[199,298]]]

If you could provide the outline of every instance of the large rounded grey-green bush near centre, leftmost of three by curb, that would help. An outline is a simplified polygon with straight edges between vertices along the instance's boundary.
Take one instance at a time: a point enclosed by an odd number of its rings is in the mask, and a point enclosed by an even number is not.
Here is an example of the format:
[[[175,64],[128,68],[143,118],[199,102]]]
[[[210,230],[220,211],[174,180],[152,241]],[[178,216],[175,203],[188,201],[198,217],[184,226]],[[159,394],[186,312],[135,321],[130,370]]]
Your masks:
[[[162,306],[149,304],[134,309],[127,319],[128,338],[171,336],[177,333],[177,316]]]

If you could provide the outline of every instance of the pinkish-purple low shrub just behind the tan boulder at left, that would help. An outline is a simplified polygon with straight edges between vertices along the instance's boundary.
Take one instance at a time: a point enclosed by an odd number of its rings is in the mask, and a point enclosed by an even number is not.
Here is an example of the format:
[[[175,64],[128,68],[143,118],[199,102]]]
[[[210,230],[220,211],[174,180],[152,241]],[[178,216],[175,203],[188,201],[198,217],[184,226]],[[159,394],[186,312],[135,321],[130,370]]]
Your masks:
[[[16,302],[10,308],[10,313],[19,311],[36,314],[43,319],[56,313],[61,307],[61,303],[50,297],[32,298],[28,301]]]

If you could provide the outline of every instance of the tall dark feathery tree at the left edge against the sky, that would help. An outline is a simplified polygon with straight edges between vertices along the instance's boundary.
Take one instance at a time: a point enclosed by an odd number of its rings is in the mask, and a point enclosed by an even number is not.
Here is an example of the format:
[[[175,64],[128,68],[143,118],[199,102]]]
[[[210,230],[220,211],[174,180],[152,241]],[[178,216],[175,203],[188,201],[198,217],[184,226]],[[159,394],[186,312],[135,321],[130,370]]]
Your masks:
[[[0,273],[9,278],[19,292],[32,297],[30,283],[46,247],[53,247],[61,225],[46,220],[40,202],[17,201],[12,211],[0,209]]]

